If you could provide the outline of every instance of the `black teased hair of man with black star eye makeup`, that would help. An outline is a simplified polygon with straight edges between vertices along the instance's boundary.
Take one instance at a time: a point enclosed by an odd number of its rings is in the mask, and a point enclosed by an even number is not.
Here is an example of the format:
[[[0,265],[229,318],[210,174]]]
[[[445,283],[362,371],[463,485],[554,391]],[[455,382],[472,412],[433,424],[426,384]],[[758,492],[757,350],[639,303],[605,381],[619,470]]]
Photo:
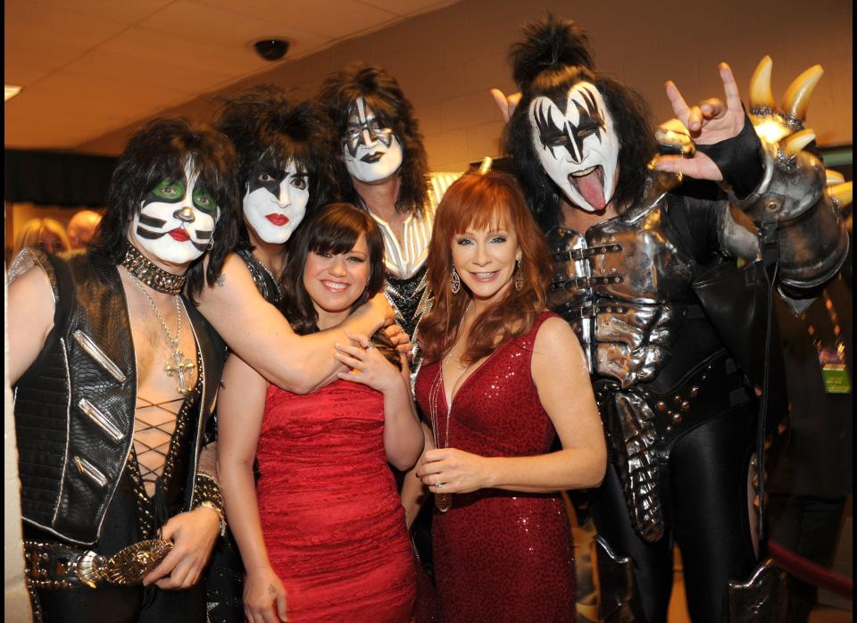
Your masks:
[[[292,104],[286,91],[274,85],[253,87],[226,100],[215,127],[229,137],[237,150],[242,197],[254,165],[263,155],[270,154],[279,169],[295,160],[309,175],[307,218],[319,206],[329,203],[334,164],[329,139],[324,138],[325,124],[311,103]],[[239,236],[243,245],[249,244],[243,219]]]

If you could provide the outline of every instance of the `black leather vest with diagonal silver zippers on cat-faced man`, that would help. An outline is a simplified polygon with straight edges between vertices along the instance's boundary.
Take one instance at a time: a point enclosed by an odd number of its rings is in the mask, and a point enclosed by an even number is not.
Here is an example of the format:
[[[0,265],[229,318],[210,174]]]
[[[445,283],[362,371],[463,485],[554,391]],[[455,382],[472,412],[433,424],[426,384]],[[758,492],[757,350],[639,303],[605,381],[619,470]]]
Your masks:
[[[94,544],[133,443],[137,370],[128,306],[117,267],[104,258],[33,253],[54,288],[56,310],[42,352],[14,387],[21,515],[68,541]],[[189,510],[223,349],[196,308],[186,309],[203,361],[203,416],[189,442]]]

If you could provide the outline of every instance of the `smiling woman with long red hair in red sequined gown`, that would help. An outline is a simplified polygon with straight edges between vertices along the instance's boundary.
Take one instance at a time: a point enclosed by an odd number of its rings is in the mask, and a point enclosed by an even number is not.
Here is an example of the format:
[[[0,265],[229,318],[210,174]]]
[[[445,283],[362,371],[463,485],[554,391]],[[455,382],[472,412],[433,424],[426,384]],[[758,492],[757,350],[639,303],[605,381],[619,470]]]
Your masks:
[[[446,191],[428,265],[416,395],[431,432],[415,472],[435,496],[441,618],[574,620],[558,492],[598,485],[606,450],[578,340],[545,311],[550,258],[511,177],[468,174]]]

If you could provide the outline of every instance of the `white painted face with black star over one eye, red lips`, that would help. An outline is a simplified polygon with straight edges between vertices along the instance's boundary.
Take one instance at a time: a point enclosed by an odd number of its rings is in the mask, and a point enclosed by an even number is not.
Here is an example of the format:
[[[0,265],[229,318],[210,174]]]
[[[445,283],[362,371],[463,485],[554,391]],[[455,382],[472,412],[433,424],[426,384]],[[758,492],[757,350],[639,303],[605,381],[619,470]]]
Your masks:
[[[244,218],[264,242],[282,245],[304,220],[309,200],[309,180],[295,161],[288,161],[282,170],[264,156],[247,180]]]

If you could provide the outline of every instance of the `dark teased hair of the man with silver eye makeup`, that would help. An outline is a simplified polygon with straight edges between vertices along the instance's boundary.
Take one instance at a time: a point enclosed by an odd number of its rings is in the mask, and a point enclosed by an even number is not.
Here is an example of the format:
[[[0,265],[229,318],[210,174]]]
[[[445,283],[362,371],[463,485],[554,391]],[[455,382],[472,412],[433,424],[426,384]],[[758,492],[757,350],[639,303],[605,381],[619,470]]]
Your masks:
[[[395,202],[396,210],[419,214],[428,200],[428,157],[419,124],[399,83],[375,65],[356,63],[332,74],[321,85],[319,102],[324,105],[333,127],[331,151],[337,154],[337,178],[343,200],[358,203],[342,161],[342,137],[348,127],[348,110],[359,97],[369,104],[383,127],[393,130],[402,144],[402,167],[399,169],[402,186]]]

